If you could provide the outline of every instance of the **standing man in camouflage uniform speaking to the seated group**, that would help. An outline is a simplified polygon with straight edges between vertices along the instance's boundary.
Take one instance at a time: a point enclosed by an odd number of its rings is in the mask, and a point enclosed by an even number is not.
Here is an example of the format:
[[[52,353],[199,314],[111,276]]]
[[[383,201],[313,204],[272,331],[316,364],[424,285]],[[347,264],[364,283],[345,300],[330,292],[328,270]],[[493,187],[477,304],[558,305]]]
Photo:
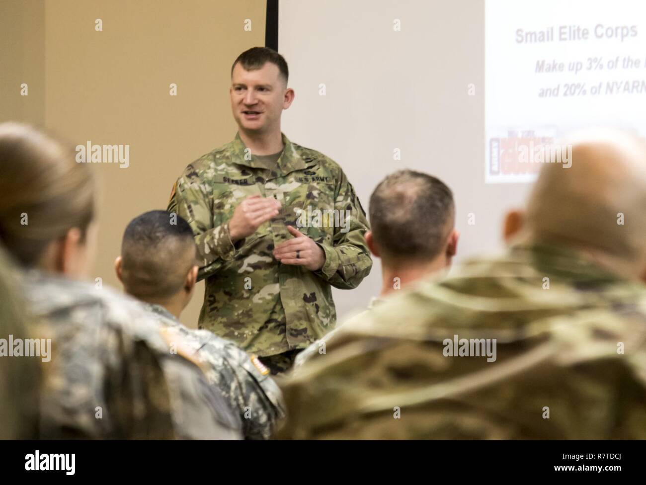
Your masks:
[[[280,132],[294,98],[287,76],[271,49],[236,59],[238,134],[187,167],[168,207],[189,222],[198,245],[198,279],[206,278],[200,328],[258,354],[272,373],[335,327],[331,286],[357,287],[372,264],[368,222],[344,172]]]

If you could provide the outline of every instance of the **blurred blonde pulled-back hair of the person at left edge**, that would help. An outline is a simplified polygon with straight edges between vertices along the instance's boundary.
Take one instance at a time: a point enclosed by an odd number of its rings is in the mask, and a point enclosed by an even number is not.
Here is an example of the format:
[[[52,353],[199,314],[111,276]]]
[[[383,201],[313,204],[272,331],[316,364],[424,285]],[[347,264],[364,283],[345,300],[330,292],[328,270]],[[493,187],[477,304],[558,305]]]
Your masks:
[[[94,181],[76,153],[28,125],[0,124],[0,240],[23,266],[94,218]]]

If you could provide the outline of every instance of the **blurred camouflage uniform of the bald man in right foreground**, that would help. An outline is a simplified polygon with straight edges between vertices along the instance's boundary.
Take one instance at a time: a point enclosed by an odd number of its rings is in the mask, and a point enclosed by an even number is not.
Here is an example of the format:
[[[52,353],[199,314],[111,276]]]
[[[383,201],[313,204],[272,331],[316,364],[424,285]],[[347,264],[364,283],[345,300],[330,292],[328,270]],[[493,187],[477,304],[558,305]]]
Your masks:
[[[454,335],[496,338],[496,360],[444,356]],[[342,325],[283,391],[279,437],[645,439],[646,289],[519,246]]]

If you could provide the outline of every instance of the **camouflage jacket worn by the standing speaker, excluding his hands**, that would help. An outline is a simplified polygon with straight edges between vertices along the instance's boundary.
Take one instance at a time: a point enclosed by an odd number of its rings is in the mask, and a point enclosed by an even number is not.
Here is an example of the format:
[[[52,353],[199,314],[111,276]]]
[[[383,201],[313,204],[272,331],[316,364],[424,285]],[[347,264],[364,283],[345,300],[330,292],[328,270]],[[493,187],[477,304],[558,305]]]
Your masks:
[[[277,163],[266,163],[251,156],[236,135],[186,168],[168,207],[189,222],[202,258],[200,328],[261,357],[303,349],[333,329],[331,286],[357,287],[372,265],[364,240],[368,221],[339,165],[284,135],[283,143]],[[227,224],[233,211],[256,194],[280,201],[280,213],[232,244]],[[315,272],[280,264],[272,254],[293,238],[287,225],[297,227],[298,210],[308,206],[351,211],[347,232],[329,219],[322,227],[298,227],[325,251],[326,262]]]

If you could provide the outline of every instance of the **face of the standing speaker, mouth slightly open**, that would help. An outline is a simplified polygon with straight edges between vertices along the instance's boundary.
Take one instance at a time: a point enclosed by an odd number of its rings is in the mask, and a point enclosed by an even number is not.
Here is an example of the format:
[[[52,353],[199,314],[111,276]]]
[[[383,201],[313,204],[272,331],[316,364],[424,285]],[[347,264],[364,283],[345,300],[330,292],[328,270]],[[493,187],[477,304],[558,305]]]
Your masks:
[[[282,110],[289,108],[293,90],[287,89],[278,66],[273,63],[247,71],[240,63],[231,75],[231,110],[240,129],[269,132],[280,127]]]

